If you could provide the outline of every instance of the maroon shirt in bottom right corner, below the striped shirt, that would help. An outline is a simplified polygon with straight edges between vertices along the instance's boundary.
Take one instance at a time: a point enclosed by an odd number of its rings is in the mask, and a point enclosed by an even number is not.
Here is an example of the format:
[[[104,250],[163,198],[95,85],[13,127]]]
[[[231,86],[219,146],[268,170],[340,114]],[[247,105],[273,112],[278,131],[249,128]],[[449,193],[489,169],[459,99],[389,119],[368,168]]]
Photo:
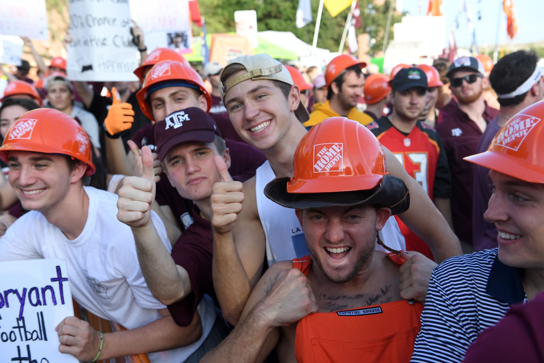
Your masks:
[[[544,293],[510,308],[468,348],[463,362],[544,362]]]

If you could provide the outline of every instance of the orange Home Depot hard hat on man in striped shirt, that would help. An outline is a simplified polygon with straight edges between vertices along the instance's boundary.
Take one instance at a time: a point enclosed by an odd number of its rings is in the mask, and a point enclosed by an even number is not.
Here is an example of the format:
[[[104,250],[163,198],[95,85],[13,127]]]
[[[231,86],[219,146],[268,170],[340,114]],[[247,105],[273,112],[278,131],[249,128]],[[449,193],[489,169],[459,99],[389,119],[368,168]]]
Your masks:
[[[544,101],[524,108],[500,128],[485,153],[465,160],[508,176],[544,183]]]

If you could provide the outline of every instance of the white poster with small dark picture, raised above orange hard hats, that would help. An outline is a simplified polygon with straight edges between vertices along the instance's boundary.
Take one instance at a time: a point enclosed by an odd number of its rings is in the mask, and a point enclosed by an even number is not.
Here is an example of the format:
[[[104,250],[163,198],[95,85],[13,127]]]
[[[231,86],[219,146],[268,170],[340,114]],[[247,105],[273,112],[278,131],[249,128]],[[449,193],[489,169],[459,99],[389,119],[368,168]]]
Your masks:
[[[144,32],[148,53],[157,48],[191,52],[189,0],[130,0],[130,7],[131,19]]]

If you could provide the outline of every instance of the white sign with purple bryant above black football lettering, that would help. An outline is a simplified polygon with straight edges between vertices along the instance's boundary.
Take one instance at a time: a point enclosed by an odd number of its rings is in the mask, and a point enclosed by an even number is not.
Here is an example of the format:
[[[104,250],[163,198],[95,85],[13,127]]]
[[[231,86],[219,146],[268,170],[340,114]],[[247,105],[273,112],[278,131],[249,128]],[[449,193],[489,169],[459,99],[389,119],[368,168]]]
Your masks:
[[[59,352],[55,326],[73,316],[63,259],[0,262],[1,362],[77,363]]]

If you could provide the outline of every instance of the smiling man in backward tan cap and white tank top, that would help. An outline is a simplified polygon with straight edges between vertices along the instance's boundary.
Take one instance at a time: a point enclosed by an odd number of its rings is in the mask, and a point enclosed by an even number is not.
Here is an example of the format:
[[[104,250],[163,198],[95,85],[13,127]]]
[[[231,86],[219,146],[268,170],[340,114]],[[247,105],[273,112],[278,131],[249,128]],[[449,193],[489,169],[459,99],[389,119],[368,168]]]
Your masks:
[[[263,194],[270,180],[293,175],[296,145],[306,134],[301,122],[308,119],[308,113],[300,104],[299,88],[293,84],[287,69],[268,55],[233,59],[221,72],[220,90],[234,129],[246,142],[263,150],[268,159],[257,169],[256,176],[243,186],[218,183],[212,195],[212,206],[215,204],[218,213],[228,214],[232,222],[236,221],[233,225],[214,229],[213,270],[221,310],[228,322],[236,324],[251,289],[261,277],[263,257],[271,266],[276,261],[308,253],[304,232],[294,210],[271,202]],[[325,156],[323,161],[326,161],[332,154],[320,156]],[[406,224],[424,238],[437,261],[460,253],[453,232],[422,187],[388,150],[385,150],[385,157],[390,172],[403,178],[410,188],[412,201],[416,201],[403,213]],[[422,215],[428,219],[422,219]],[[391,247],[405,248],[404,237],[394,217],[386,222],[380,233],[387,234]],[[405,264],[403,293],[407,298],[416,295],[424,298],[425,295],[426,286],[416,282],[412,285],[410,279],[417,275],[411,275],[411,271],[418,269],[417,263],[412,265],[412,262],[419,257],[414,256]],[[430,270],[427,282],[429,276]]]

